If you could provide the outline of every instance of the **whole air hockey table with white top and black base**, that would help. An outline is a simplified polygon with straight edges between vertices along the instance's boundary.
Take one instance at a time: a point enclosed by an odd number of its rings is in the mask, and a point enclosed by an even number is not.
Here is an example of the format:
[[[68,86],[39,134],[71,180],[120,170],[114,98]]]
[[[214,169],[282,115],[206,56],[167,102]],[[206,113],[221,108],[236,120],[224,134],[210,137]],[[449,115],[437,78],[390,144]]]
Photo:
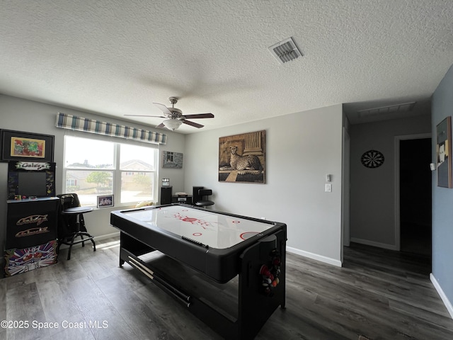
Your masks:
[[[277,307],[285,309],[284,223],[173,203],[113,211],[110,225],[120,229],[120,267],[137,268],[225,339],[253,339]],[[236,317],[139,257],[153,251],[215,283],[237,281]]]

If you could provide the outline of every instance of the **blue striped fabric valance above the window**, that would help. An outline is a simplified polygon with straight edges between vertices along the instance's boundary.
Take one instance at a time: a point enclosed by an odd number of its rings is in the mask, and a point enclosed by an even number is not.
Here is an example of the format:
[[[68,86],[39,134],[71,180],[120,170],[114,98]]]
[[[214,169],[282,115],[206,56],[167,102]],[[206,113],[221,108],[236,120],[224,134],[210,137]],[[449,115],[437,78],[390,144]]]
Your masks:
[[[68,115],[66,113],[58,113],[56,126],[57,128],[91,132],[98,135],[126,138],[127,140],[137,140],[139,142],[154,144],[166,144],[167,142],[167,135],[164,133],[130,128],[125,125],[105,123],[101,122],[101,120],[82,118],[77,117],[76,115]]]

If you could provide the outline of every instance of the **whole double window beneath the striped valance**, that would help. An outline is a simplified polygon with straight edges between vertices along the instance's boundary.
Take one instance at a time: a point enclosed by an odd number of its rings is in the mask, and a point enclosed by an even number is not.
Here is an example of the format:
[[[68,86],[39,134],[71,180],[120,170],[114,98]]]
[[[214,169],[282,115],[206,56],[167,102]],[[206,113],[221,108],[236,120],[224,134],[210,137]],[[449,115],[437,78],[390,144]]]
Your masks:
[[[156,197],[158,149],[88,138],[64,138],[65,193],[77,193],[81,205],[96,196],[115,195],[130,204]]]

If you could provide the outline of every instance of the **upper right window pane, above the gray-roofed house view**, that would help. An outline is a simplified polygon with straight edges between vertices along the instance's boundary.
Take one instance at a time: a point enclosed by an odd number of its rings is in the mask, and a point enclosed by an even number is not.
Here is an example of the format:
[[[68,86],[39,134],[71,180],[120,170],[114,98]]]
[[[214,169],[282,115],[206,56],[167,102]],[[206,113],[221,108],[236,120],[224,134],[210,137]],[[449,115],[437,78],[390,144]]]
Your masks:
[[[137,147],[135,145],[120,145],[120,169],[127,171],[154,171],[156,157],[152,147]]]

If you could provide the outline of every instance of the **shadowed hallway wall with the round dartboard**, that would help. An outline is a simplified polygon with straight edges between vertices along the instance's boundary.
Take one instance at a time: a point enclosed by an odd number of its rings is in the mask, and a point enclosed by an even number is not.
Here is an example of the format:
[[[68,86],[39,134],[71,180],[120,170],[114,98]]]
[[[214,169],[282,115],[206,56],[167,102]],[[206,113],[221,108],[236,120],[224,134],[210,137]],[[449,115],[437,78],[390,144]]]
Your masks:
[[[395,235],[395,137],[430,134],[430,115],[350,125],[350,237],[352,242],[398,249]],[[375,149],[385,161],[376,169],[360,162]],[[428,166],[429,164],[427,164]]]

